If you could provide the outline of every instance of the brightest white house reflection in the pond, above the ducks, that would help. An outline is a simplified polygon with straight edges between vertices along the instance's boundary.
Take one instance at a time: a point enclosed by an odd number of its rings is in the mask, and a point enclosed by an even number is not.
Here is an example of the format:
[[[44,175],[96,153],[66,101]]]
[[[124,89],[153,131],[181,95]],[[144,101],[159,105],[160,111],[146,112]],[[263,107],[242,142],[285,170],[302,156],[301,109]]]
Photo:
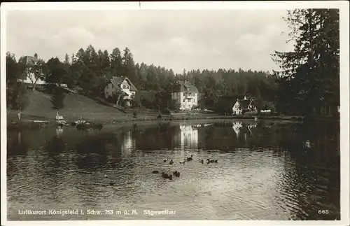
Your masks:
[[[180,125],[180,147],[198,147],[198,129],[192,125]]]

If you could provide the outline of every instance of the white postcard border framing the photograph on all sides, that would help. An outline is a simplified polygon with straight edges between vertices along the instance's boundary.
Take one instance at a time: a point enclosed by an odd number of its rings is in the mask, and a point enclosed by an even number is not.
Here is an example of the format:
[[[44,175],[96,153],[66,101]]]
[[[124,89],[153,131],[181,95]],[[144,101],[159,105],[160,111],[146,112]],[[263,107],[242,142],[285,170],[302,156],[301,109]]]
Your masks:
[[[220,225],[349,225],[349,1],[13,2],[1,3],[1,225],[214,225],[215,220],[7,221],[6,11],[9,10],[274,10],[340,9],[341,220],[221,220]],[[6,219],[6,220],[5,220]]]

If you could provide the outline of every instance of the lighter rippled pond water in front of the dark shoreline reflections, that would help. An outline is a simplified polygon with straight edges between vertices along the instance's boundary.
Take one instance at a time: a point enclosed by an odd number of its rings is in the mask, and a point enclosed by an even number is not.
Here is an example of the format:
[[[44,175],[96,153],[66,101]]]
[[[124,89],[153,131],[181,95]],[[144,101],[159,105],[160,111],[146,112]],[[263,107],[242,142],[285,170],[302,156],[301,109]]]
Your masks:
[[[203,134],[198,134],[200,139]],[[148,135],[149,139],[157,136]],[[167,139],[163,135],[162,139]],[[118,136],[118,132],[113,135]],[[267,133],[263,142],[268,143],[270,136],[274,135]],[[255,147],[247,144],[249,148],[239,148],[239,140],[232,139],[228,144],[224,137],[220,140],[223,147],[218,148],[221,144],[216,143],[212,150],[203,147],[143,150],[137,142],[121,150],[108,142],[110,148],[106,155],[95,150],[92,153],[79,150],[79,154],[66,142],[69,152],[50,153],[45,148],[37,151],[31,148],[34,150],[26,155],[8,156],[8,163],[13,166],[8,170],[8,218],[34,220],[34,216],[21,218],[16,211],[52,206],[176,211],[176,216],[141,215],[146,219],[300,220],[317,218],[314,212],[322,208],[337,214],[337,202],[333,199],[339,197],[334,178],[338,169],[327,170],[328,167],[317,162],[302,162],[305,153],[281,152],[271,144],[262,147],[255,143]],[[207,144],[207,141],[200,142]],[[236,146],[230,146],[232,143]],[[103,148],[106,146],[101,144]],[[190,155],[193,161],[179,164]],[[163,162],[165,158],[174,160],[174,164]],[[218,160],[218,163],[201,164],[199,158]],[[181,176],[170,181],[160,174],[152,174],[153,170],[167,174],[177,170]],[[104,178],[104,174],[109,177]],[[116,184],[109,185],[111,180]],[[87,219],[86,216],[78,218]],[[102,220],[98,216],[89,218]],[[104,216],[106,218],[138,219],[140,216]]]

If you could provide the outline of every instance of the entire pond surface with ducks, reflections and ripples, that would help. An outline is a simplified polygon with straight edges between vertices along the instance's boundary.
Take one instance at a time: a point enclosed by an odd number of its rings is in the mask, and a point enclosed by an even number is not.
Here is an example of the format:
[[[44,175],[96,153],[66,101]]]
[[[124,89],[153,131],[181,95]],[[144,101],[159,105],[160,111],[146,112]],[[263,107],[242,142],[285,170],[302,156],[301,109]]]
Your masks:
[[[339,220],[339,164],[339,122],[10,130],[8,220]]]

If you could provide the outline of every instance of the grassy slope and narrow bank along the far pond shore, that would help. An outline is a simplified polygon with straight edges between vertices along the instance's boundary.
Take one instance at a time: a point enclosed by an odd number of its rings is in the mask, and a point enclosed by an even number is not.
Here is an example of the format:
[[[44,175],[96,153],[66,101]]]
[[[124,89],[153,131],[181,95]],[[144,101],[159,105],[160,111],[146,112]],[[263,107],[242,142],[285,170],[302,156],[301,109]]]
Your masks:
[[[18,122],[18,112],[7,111],[8,127],[40,127],[55,124],[57,111],[52,108],[50,94],[44,92],[30,92],[29,106],[22,111],[22,120]],[[134,117],[136,113],[136,118]],[[59,110],[59,115],[64,116],[67,122],[73,122],[80,119],[95,123],[109,124],[120,122],[145,122],[145,121],[170,121],[170,120],[214,120],[214,119],[255,119],[255,115],[218,115],[215,113],[179,113],[173,115],[162,115],[158,118],[157,111],[147,109],[130,109],[120,111],[117,108],[106,106],[99,101],[90,99],[80,94],[66,94],[64,98],[64,108]],[[260,115],[259,119],[264,120],[302,120],[301,117],[288,116],[268,116]],[[45,122],[33,122],[33,121]]]

